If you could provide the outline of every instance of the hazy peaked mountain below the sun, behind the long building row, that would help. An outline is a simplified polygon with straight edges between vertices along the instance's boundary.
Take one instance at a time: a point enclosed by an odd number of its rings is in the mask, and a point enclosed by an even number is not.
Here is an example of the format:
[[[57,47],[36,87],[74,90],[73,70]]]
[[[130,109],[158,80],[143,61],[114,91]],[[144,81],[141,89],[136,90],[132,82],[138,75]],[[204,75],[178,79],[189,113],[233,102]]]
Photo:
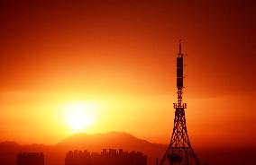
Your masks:
[[[109,132],[106,134],[87,135],[78,133],[71,135],[56,144],[61,150],[87,150],[90,152],[101,152],[102,149],[123,149],[124,151],[140,151],[148,155],[149,164],[155,164],[155,159],[167,149],[167,145],[150,143],[138,139],[124,132]]]

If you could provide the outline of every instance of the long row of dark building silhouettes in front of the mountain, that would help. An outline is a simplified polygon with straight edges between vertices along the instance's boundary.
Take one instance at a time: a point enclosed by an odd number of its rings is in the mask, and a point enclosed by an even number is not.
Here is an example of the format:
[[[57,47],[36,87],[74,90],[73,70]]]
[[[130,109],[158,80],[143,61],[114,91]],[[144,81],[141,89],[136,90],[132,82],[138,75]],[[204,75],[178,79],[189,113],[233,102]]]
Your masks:
[[[102,152],[69,151],[65,165],[147,165],[147,156],[142,152],[123,152],[104,149]]]

